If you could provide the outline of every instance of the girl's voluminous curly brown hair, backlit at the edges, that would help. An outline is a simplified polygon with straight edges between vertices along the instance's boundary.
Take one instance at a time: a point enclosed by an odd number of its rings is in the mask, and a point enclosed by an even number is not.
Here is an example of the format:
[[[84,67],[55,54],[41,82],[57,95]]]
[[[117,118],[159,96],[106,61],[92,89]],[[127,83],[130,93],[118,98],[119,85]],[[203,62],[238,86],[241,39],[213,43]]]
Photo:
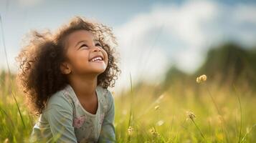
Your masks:
[[[105,89],[115,86],[115,80],[121,71],[118,68],[118,59],[114,56],[115,46],[118,44],[111,28],[75,16],[69,24],[63,25],[54,34],[49,30],[41,33],[33,30],[30,37],[25,39],[28,43],[22,46],[16,61],[19,62],[18,85],[27,95],[29,109],[37,116],[42,114],[49,97],[69,84],[67,76],[60,70],[60,65],[66,59],[65,40],[77,30],[93,32],[108,54],[108,66],[98,75],[97,85]]]

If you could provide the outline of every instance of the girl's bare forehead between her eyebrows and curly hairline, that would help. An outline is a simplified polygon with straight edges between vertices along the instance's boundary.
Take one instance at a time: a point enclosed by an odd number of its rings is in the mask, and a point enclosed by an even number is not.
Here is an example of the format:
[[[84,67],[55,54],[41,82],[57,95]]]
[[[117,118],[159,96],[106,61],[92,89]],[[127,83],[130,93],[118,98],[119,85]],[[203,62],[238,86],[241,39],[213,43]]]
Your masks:
[[[75,46],[75,44],[77,44],[77,42],[79,41],[90,41],[94,39],[97,39],[97,37],[95,36],[95,34],[93,34],[93,32],[87,30],[77,30],[73,31],[67,36],[66,44],[67,46]]]

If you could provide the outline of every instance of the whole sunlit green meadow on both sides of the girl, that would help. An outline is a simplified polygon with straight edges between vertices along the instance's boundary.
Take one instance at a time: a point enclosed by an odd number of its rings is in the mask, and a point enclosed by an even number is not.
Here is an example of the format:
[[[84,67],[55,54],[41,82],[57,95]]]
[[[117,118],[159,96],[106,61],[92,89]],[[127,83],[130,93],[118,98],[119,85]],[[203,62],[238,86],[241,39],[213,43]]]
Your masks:
[[[136,84],[115,94],[118,142],[256,142],[255,92],[207,81]],[[29,114],[15,76],[1,72],[0,142],[28,142]]]

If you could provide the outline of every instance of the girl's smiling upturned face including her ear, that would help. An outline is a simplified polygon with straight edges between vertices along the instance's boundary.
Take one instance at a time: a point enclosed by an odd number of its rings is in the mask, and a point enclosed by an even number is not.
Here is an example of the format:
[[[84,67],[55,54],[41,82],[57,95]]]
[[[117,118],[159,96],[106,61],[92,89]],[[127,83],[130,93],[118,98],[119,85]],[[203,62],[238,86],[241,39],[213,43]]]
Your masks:
[[[64,74],[98,75],[108,66],[108,54],[91,32],[72,32],[65,41],[67,61],[62,64]]]

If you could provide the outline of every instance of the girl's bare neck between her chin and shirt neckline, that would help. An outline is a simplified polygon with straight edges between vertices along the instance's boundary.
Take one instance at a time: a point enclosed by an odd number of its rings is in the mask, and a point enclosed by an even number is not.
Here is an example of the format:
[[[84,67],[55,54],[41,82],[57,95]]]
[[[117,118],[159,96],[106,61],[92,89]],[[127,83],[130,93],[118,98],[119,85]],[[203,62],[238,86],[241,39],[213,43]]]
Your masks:
[[[97,76],[93,77],[77,77],[69,78],[70,86],[74,89],[75,94],[80,99],[91,99],[95,96],[97,87]]]

